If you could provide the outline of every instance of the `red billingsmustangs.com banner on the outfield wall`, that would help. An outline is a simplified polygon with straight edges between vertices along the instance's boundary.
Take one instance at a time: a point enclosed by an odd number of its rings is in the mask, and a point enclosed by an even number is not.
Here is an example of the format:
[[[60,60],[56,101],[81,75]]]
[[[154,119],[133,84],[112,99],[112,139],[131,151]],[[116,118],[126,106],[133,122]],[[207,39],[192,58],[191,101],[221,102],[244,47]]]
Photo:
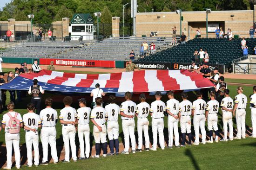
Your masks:
[[[46,59],[40,58],[40,64],[48,65],[54,62],[54,65],[78,66],[78,67],[108,67],[115,68],[115,61],[101,60],[70,60],[70,59]]]

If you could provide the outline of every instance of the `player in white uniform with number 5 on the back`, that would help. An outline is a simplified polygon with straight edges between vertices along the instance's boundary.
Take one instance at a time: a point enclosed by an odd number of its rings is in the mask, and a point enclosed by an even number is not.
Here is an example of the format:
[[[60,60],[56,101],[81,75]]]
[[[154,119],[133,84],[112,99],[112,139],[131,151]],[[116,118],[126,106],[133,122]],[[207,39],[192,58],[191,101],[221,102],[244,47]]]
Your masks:
[[[247,104],[247,97],[243,94],[243,88],[236,89],[237,95],[235,97],[235,106],[233,109],[233,116],[236,116],[237,133],[234,139],[245,139],[245,108]]]

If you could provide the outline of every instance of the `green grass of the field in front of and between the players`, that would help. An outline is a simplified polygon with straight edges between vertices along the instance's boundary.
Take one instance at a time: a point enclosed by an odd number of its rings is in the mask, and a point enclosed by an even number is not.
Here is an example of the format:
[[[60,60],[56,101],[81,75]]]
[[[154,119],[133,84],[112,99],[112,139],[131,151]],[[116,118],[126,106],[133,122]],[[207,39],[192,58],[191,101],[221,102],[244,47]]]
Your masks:
[[[82,72],[88,73],[88,72]],[[91,73],[91,72],[90,72]],[[91,73],[96,74],[96,73]],[[247,83],[236,80],[236,82]],[[231,91],[231,97],[234,98],[236,95],[237,86],[229,85],[228,87]],[[244,94],[248,96],[252,94],[252,87],[244,86]],[[89,94],[86,94],[89,95]],[[179,96],[180,94],[175,94],[175,98],[181,101]],[[53,108],[58,111],[64,107],[61,103],[63,96],[58,96],[55,94],[45,94],[46,96],[52,96],[54,100],[57,100],[57,103],[54,103]],[[77,98],[74,96],[74,98]],[[137,99],[136,99],[137,100]],[[168,99],[166,96],[162,97],[162,101],[166,102]],[[189,93],[189,100],[195,100],[195,94],[192,92]],[[9,101],[9,92],[7,92],[7,102]],[[26,104],[30,101],[30,97],[24,99],[22,103],[17,104],[17,112],[20,112],[22,115],[27,113]],[[150,103],[151,101],[149,101]],[[79,107],[78,102],[74,100],[72,105],[76,109]],[[44,108],[44,104],[41,105]],[[4,113],[6,113],[5,111]],[[246,109],[246,125],[251,127],[251,116],[249,105]],[[2,115],[0,114],[0,120],[2,119]],[[222,117],[221,112],[218,121],[218,127],[222,130]],[[165,139],[168,140],[168,126],[167,126],[167,117],[165,120],[165,128],[164,135]],[[135,122],[137,120],[135,119]],[[149,117],[149,121],[151,122],[151,118]],[[233,119],[233,126],[236,128],[235,118]],[[91,132],[92,132],[92,123],[90,122]],[[120,126],[120,137],[119,140],[122,141],[123,134],[121,129],[121,120],[119,121]],[[207,127],[207,123],[206,123]],[[63,145],[62,136],[61,136],[61,124],[58,122],[57,126],[57,145]],[[193,127],[192,127],[193,129]],[[180,131],[180,130],[179,130]],[[193,131],[193,130],[192,130]],[[135,126],[135,135],[136,135],[136,126]],[[152,142],[152,131],[151,131],[151,123],[149,124],[149,135],[150,141]],[[91,133],[91,141],[93,140]],[[0,132],[0,145],[4,144],[4,132]],[[94,142],[93,142],[94,144]],[[20,145],[25,145],[25,132],[21,130],[20,132]],[[76,146],[79,147],[78,137],[76,135]],[[148,151],[141,152],[136,154],[129,155],[119,155],[112,157],[101,157],[100,159],[90,158],[88,160],[78,161],[74,163],[71,161],[69,164],[49,164],[48,166],[39,166],[38,170],[77,170],[77,169],[99,169],[99,170],[120,170],[120,169],[128,169],[128,170],[153,170],[153,169],[175,169],[175,170],[233,170],[233,169],[248,169],[255,170],[256,169],[256,161],[255,161],[255,149],[256,149],[256,139],[243,139],[243,140],[234,140],[225,143],[219,142],[218,144],[206,144],[185,148],[174,148],[174,149],[165,149],[162,151],[161,149],[158,151]],[[40,153],[41,154],[41,153]],[[22,166],[21,169],[27,170],[25,166]]]

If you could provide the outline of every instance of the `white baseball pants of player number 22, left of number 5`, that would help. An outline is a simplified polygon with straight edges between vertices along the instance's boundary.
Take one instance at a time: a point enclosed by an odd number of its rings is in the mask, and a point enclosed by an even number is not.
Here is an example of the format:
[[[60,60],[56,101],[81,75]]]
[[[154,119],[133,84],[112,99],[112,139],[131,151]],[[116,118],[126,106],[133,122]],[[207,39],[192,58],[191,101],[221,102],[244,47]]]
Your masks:
[[[228,124],[229,124],[229,138],[233,139],[233,121],[232,113],[223,111],[222,112],[224,140],[228,140]]]

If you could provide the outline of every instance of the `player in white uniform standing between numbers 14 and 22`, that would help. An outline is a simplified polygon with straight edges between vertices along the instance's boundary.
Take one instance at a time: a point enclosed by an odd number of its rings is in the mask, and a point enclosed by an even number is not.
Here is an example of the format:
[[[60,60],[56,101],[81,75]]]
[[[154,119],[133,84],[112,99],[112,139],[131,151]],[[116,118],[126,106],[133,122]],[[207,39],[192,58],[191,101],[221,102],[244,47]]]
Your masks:
[[[205,118],[208,120],[207,125],[208,125],[208,130],[209,130],[209,137],[210,140],[206,141],[207,143],[213,143],[213,131],[215,131],[215,142],[219,142],[218,136],[219,136],[219,131],[218,131],[218,110],[219,110],[219,102],[215,100],[215,93],[210,92],[210,101],[206,104],[206,111],[205,111]]]

